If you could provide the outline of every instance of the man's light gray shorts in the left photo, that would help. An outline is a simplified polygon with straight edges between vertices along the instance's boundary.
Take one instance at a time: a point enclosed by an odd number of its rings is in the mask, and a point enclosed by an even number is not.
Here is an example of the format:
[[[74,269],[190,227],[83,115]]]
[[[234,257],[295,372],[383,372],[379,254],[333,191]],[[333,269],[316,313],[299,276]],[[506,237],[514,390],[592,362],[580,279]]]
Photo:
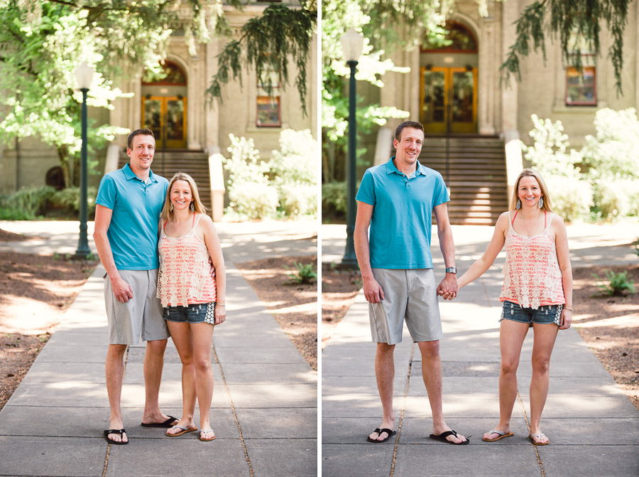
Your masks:
[[[109,318],[111,345],[136,345],[142,341],[165,340],[170,336],[157,297],[158,269],[119,270],[133,290],[133,298],[126,303],[118,301],[111,290],[111,279],[105,277],[104,302]]]

